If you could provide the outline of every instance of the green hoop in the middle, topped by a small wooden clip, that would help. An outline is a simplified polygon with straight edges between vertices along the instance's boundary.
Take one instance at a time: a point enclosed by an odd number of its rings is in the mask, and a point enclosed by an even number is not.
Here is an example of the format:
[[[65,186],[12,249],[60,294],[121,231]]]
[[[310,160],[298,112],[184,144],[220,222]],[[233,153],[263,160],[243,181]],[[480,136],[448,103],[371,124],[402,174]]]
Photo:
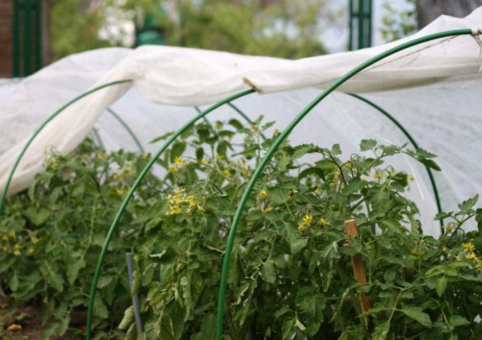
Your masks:
[[[247,94],[251,94],[255,92],[253,89],[247,89],[243,92],[239,92],[238,94],[233,94],[232,96],[229,96],[228,98],[225,98],[221,100],[220,102],[212,105],[205,111],[202,111],[200,114],[196,115],[194,118],[189,120],[185,125],[182,125],[180,129],[178,129],[174,134],[169,136],[167,138],[165,144],[160,147],[160,149],[154,154],[154,156],[151,157],[143,171],[139,174],[138,178],[136,178],[136,181],[132,185],[132,188],[129,190],[129,193],[125,196],[121,207],[116,213],[116,217],[114,217],[114,221],[112,222],[112,225],[110,226],[109,231],[107,232],[107,236],[105,237],[105,241],[101,250],[101,254],[98,257],[98,261],[96,264],[95,272],[94,272],[94,279],[92,279],[92,285],[90,286],[90,298],[89,298],[89,307],[87,308],[87,332],[85,335],[85,338],[87,340],[90,340],[92,337],[92,312],[94,310],[94,300],[96,296],[96,287],[97,287],[97,281],[98,277],[101,275],[101,268],[102,268],[102,262],[105,257],[105,254],[107,253],[107,247],[109,246],[110,240],[112,239],[112,236],[114,235],[114,231],[116,231],[117,226],[119,222],[121,221],[121,217],[127,207],[127,204],[129,204],[130,200],[132,199],[132,196],[136,192],[137,187],[140,185],[140,182],[142,182],[143,178],[147,175],[151,167],[156,163],[156,160],[160,157],[160,155],[180,136],[184,131],[187,129],[191,128],[191,126],[196,123],[198,120],[201,118],[205,117],[209,112],[213,111],[214,109],[217,109],[218,107],[229,103],[231,100],[235,100],[237,98],[240,98],[242,96],[246,96]]]

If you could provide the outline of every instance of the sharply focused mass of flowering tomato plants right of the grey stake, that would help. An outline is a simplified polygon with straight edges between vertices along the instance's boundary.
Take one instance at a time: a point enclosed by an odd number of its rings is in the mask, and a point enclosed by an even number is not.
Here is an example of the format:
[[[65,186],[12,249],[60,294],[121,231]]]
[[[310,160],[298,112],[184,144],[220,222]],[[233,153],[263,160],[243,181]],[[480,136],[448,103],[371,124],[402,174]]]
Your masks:
[[[178,158],[177,188],[159,197],[136,245],[136,290],[143,293],[147,339],[213,339],[222,254],[235,208],[251,177],[262,141],[258,121],[231,122],[211,134],[204,125],[184,142],[206,142],[210,158]],[[233,132],[243,138],[229,142]],[[182,144],[180,144],[182,145]],[[232,149],[231,149],[232,147]],[[481,210],[477,197],[460,204],[438,240],[422,235],[417,206],[404,198],[407,173],[385,165],[405,153],[439,169],[427,151],[362,140],[368,156],[340,157],[331,149],[285,144],[247,202],[238,229],[227,287],[224,339],[477,339],[482,336],[481,232],[461,226]],[[228,150],[231,150],[228,152]],[[314,164],[303,156],[315,156]],[[366,155],[366,153],[365,153]],[[192,181],[193,173],[204,177]],[[345,220],[359,238],[347,242]],[[474,247],[474,242],[476,248]],[[368,273],[361,286],[350,256]],[[371,299],[363,313],[360,294]],[[365,318],[368,325],[365,326]],[[134,337],[132,310],[121,328]]]

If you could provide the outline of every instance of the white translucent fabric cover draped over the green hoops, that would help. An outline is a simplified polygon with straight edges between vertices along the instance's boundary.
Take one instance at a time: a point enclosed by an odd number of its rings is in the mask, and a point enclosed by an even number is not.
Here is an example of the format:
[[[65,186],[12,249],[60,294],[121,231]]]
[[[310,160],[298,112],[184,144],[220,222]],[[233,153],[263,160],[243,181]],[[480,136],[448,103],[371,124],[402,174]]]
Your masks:
[[[172,131],[196,114],[193,105],[216,103],[253,87],[235,104],[251,118],[264,114],[282,129],[319,90],[372,56],[418,36],[470,28],[474,35],[423,43],[369,67],[339,90],[367,92],[410,131],[424,149],[439,154],[443,168],[436,174],[443,207],[482,192],[481,155],[477,133],[482,129],[481,45],[482,8],[468,17],[442,16],[415,36],[356,52],[289,61],[181,47],[143,46],[136,50],[109,48],[69,56],[13,83],[0,83],[0,190],[26,140],[52,112],[79,94],[111,81],[132,82],[105,87],[70,105],[30,145],[9,193],[28,187],[43,169],[49,149],[66,152],[91,134],[94,127],[107,149],[136,149],[125,128],[106,113],[112,108],[129,125],[147,151],[148,141]],[[209,120],[236,116],[221,107]],[[346,94],[329,96],[293,131],[294,143],[335,142],[346,153],[357,151],[362,138],[403,144],[406,137],[373,107]],[[406,158],[397,167],[413,173],[410,198],[423,212],[430,233],[436,212],[430,182],[419,164]]]

